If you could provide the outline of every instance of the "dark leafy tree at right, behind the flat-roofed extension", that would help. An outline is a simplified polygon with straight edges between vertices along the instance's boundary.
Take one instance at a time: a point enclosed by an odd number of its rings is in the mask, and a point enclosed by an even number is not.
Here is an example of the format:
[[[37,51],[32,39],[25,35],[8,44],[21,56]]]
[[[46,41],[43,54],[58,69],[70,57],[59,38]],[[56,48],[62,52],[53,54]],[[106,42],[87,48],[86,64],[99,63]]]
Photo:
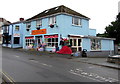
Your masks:
[[[105,28],[104,34],[98,34],[98,36],[115,38],[115,44],[120,44],[120,13],[117,15],[116,21],[111,22]]]

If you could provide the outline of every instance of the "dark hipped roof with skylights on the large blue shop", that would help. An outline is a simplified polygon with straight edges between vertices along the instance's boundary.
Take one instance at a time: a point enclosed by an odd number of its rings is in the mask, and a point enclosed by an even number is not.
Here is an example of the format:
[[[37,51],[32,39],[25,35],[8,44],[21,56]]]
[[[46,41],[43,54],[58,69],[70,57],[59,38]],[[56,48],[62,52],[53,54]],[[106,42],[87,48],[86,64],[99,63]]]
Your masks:
[[[86,17],[86,16],[84,16],[84,15],[82,15],[82,14],[64,6],[64,5],[60,5],[60,6],[45,10],[45,11],[27,19],[26,21],[35,20],[35,19],[38,19],[38,18],[41,18],[41,17],[45,17],[45,16],[49,16],[49,15],[53,15],[53,14],[58,14],[58,13],[76,15],[76,16],[80,16],[82,18],[90,19],[90,18],[88,18],[88,17]]]

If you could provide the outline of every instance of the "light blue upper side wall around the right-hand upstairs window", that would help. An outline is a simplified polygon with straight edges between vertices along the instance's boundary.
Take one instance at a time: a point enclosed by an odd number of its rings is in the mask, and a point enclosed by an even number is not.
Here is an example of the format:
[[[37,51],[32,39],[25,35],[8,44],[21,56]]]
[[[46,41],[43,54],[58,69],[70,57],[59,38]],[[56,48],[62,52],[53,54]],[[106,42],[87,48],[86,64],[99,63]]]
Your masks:
[[[75,26],[72,24],[72,16],[59,15],[58,28],[59,32],[63,34],[63,37],[67,37],[68,34],[74,35],[88,35],[89,34],[89,21],[82,19],[82,26]]]

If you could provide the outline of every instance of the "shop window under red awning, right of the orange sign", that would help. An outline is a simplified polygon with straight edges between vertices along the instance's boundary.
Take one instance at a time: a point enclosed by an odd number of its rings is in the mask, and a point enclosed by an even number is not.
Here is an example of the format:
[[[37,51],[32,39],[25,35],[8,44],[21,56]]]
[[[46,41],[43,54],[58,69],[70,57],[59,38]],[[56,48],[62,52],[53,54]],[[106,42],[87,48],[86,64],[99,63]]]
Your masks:
[[[58,45],[58,36],[57,35],[49,35],[44,37],[45,43],[48,47],[54,47]]]

